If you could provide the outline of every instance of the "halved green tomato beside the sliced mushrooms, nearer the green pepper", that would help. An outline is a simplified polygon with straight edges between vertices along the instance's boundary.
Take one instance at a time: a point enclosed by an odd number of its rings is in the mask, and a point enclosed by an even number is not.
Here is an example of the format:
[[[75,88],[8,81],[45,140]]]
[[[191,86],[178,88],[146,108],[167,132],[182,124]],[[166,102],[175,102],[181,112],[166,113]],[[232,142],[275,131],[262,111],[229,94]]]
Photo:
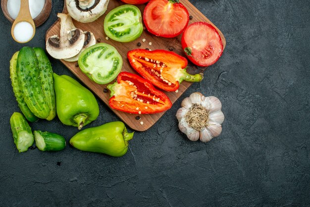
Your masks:
[[[82,72],[91,80],[106,84],[116,78],[122,69],[123,59],[113,46],[98,43],[85,49],[78,63]]]

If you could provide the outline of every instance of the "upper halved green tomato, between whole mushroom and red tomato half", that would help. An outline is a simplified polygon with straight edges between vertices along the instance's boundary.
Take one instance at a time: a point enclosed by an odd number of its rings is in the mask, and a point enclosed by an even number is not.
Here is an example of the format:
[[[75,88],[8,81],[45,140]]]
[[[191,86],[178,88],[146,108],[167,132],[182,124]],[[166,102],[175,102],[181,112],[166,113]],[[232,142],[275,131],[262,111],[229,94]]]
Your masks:
[[[141,12],[137,6],[121,5],[112,9],[104,18],[105,34],[112,40],[128,43],[143,32]]]

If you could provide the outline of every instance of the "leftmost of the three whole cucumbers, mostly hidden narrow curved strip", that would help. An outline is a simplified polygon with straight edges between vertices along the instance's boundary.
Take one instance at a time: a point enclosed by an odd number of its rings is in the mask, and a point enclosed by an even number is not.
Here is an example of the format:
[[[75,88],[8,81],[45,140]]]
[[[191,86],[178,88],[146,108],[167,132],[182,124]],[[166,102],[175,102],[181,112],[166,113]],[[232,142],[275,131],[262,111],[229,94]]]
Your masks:
[[[13,88],[13,92],[14,92],[14,95],[15,95],[15,98],[16,98],[16,101],[18,103],[20,110],[25,115],[28,121],[33,122],[33,121],[38,120],[39,118],[35,116],[33,112],[31,112],[31,110],[29,109],[29,107],[24,101],[23,92],[17,80],[17,73],[16,73],[17,56],[18,56],[18,51],[13,54],[10,60],[10,78],[11,78],[12,88]]]

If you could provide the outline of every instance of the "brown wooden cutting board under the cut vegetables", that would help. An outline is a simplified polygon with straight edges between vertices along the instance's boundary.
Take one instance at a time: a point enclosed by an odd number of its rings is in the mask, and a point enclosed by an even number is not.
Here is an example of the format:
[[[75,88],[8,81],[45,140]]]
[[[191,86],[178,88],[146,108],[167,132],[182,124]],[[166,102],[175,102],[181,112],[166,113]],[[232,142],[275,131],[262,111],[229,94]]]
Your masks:
[[[182,0],[182,3],[184,6],[188,9],[189,14],[193,16],[193,19],[190,20],[189,24],[197,21],[204,21],[212,24],[210,20],[207,19],[206,16],[204,16],[193,4],[191,4],[188,0]],[[171,50],[173,49],[173,52],[176,52],[182,56],[186,56],[182,50],[181,47],[181,35],[179,35],[176,38],[161,38],[161,37],[156,37],[155,35],[152,35],[149,33],[147,30],[144,30],[142,33],[141,37],[138,38],[137,40],[130,42],[130,43],[119,43],[116,41],[113,41],[111,39],[106,40],[105,37],[106,35],[104,34],[103,31],[103,20],[105,15],[112,10],[113,8],[123,5],[120,0],[110,0],[108,4],[107,11],[101,16],[99,19],[97,19],[94,22],[91,23],[80,23],[75,20],[73,20],[73,23],[76,28],[82,29],[83,31],[91,31],[94,33],[97,42],[103,42],[107,43],[109,45],[112,45],[115,47],[118,52],[122,55],[123,57],[123,67],[122,71],[128,71],[132,73],[136,73],[130,66],[128,59],[127,59],[127,52],[133,49],[141,48],[141,49],[150,49],[150,50],[156,50],[156,49],[162,49],[162,50]],[[141,13],[143,14],[145,4],[142,5],[137,5],[139,7]],[[63,13],[67,13],[66,10],[66,5],[64,3],[64,8],[63,8]],[[212,24],[214,27],[215,25]],[[226,41],[221,33],[221,31],[215,27],[219,33],[219,35],[222,38],[223,42],[223,48],[225,48]],[[49,30],[46,33],[46,40],[48,37],[58,34],[59,36],[59,31],[60,31],[60,21],[59,19],[49,28]],[[146,39],[145,42],[142,40]],[[140,42],[142,45],[141,47],[137,46],[137,43]],[[150,45],[152,44],[152,45]],[[67,62],[64,60],[60,60],[70,71],[72,71],[91,91],[93,91],[107,106],[108,100],[110,97],[110,92],[108,91],[107,93],[103,93],[103,89],[106,88],[106,85],[100,85],[97,84],[93,81],[91,81],[84,73],[81,72],[79,69],[77,62]],[[204,70],[205,68],[197,68],[191,64],[189,61],[189,66],[188,71],[199,71],[199,70]],[[61,75],[61,74],[59,74]],[[112,81],[111,83],[114,83]],[[192,83],[185,82],[183,81],[180,84],[180,88],[178,89],[178,92],[165,92],[165,94],[169,97],[171,100],[171,103],[173,104],[184,92],[185,90],[191,86]],[[136,131],[145,131],[149,129],[151,126],[155,124],[155,122],[164,114],[164,112],[161,113],[156,113],[156,114],[141,114],[140,120],[137,120],[137,114],[130,114],[130,113],[125,113],[121,112],[118,110],[111,109],[122,121],[124,121],[130,128]],[[141,124],[143,122],[143,124]]]

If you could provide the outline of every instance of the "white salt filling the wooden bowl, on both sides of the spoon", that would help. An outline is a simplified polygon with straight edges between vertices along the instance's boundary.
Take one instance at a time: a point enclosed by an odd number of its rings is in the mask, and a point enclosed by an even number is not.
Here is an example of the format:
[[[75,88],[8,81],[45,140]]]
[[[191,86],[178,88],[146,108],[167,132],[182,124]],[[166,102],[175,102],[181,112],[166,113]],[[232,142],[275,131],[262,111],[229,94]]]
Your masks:
[[[44,4],[45,0],[29,0],[29,10],[33,19],[41,13]],[[16,19],[20,9],[20,0],[7,0],[6,6],[9,15]]]

